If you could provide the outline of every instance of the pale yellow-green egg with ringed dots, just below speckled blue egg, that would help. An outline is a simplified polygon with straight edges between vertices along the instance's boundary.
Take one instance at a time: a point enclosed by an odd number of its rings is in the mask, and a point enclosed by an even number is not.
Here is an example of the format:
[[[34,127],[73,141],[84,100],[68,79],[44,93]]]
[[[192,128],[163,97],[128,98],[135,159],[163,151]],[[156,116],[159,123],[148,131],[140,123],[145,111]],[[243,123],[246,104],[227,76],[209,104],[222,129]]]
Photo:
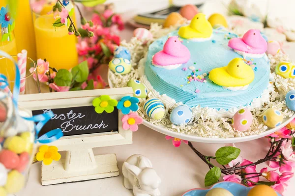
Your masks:
[[[115,73],[124,75],[124,74],[130,73],[131,63],[128,59],[114,58],[113,60],[110,61],[109,68]]]

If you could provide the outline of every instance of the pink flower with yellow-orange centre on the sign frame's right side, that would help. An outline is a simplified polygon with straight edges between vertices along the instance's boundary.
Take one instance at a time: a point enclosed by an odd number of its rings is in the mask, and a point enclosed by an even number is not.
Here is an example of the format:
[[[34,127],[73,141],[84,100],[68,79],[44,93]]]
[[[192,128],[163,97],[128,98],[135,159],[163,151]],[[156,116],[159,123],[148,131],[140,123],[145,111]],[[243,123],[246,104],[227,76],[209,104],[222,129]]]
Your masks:
[[[123,116],[122,123],[122,128],[124,130],[130,129],[131,131],[137,131],[138,124],[143,123],[143,118],[141,118],[137,112],[132,112]]]

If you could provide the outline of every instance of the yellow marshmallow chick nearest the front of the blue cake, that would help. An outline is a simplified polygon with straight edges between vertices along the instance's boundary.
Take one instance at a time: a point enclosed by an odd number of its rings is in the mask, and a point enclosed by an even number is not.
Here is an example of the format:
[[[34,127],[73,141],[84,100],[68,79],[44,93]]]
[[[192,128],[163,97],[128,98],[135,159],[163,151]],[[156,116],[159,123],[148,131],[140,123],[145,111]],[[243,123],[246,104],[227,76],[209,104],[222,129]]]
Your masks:
[[[227,66],[215,68],[209,73],[210,80],[225,87],[246,86],[254,80],[254,77],[252,68],[244,63],[242,58],[234,58]]]

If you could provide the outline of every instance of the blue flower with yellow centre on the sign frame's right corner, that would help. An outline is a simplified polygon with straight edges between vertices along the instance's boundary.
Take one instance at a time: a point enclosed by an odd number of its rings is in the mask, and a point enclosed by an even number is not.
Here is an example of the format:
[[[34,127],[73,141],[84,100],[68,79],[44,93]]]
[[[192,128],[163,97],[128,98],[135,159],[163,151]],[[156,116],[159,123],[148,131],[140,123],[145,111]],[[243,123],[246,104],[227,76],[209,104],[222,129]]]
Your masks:
[[[125,96],[118,102],[117,108],[121,110],[123,114],[129,114],[130,110],[133,112],[138,110],[138,102],[138,98]]]

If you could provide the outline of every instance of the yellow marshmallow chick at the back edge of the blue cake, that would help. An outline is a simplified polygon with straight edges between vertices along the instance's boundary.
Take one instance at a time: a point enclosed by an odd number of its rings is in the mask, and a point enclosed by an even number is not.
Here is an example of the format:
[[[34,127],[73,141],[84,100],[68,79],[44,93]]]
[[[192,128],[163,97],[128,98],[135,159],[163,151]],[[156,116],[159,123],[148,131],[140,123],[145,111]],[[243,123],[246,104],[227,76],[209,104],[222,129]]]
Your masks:
[[[185,39],[210,38],[213,32],[211,24],[203,13],[196,14],[190,25],[179,28],[178,34]]]

